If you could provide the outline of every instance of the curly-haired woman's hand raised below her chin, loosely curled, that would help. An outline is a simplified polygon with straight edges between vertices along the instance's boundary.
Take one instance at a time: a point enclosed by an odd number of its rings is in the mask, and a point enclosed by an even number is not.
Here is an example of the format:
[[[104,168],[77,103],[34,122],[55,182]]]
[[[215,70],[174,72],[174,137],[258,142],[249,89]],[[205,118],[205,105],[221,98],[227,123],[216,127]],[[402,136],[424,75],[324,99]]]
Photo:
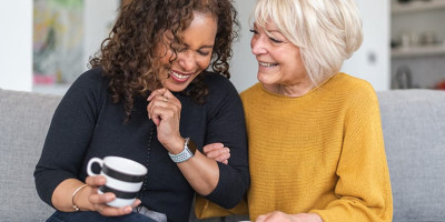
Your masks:
[[[151,92],[147,98],[148,118],[157,125],[158,140],[171,153],[182,151],[184,139],[179,133],[181,103],[166,88]],[[171,150],[171,149],[178,150]]]

